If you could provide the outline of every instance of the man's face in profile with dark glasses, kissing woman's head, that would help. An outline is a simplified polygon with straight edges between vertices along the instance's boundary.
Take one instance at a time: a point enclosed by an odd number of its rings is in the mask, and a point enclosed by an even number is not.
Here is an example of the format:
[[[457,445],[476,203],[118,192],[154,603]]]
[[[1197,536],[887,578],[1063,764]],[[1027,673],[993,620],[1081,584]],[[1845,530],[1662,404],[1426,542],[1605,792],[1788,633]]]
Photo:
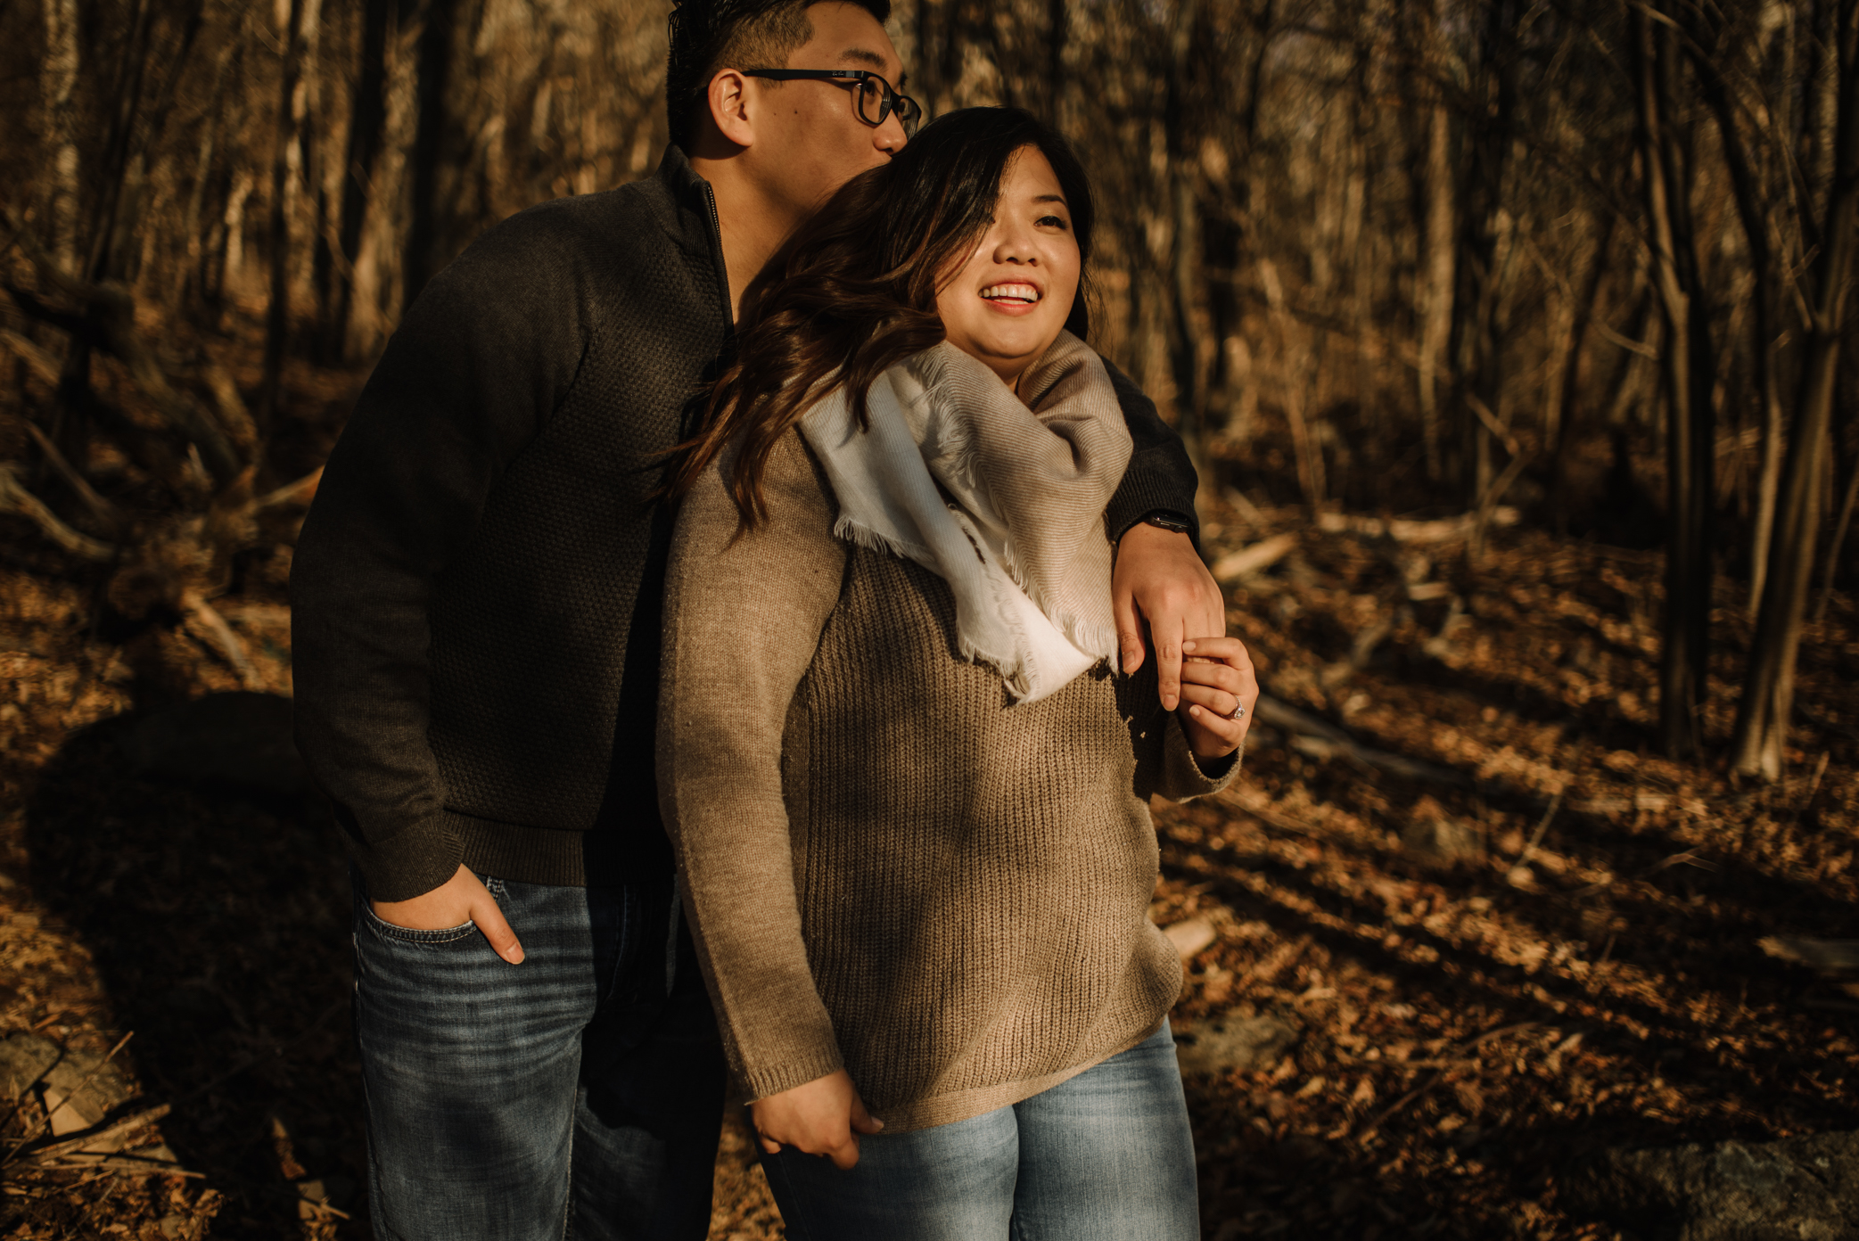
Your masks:
[[[898,50],[868,11],[855,4],[816,4],[807,9],[807,19],[814,35],[794,50],[786,65],[744,69],[870,69],[903,89]],[[762,186],[799,214],[814,212],[848,180],[903,147],[903,124],[896,113],[877,126],[859,119],[853,82],[749,82]]]

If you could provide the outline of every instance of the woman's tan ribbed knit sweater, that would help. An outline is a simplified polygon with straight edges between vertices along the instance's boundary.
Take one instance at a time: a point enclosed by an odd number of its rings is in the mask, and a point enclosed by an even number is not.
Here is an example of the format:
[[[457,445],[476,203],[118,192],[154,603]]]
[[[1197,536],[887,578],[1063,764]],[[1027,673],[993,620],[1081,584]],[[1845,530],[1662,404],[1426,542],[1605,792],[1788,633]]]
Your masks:
[[[1210,780],[1153,661],[1004,706],[943,578],[833,537],[798,435],[768,526],[714,470],[666,580],[658,788],[740,1089],[844,1066],[887,1131],[1015,1104],[1147,1037],[1180,990],[1149,923],[1149,795]]]

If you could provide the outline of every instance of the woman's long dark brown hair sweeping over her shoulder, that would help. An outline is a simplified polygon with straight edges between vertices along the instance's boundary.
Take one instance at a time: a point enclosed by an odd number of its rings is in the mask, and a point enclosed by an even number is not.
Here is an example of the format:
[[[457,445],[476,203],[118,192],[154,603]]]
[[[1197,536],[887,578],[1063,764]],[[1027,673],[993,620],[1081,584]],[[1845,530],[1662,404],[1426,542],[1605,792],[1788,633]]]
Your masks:
[[[1089,260],[1091,186],[1063,137],[1021,108],[939,117],[889,163],[853,176],[794,238],[710,388],[703,429],[673,450],[666,494],[684,496],[740,442],[731,492],[751,529],[768,520],[768,457],[814,403],[844,386],[859,425],[868,425],[872,381],[943,340],[939,279],[993,223],[1000,178],[1024,147],[1052,163],[1078,256]],[[1078,338],[1089,329],[1082,277],[1065,327]]]

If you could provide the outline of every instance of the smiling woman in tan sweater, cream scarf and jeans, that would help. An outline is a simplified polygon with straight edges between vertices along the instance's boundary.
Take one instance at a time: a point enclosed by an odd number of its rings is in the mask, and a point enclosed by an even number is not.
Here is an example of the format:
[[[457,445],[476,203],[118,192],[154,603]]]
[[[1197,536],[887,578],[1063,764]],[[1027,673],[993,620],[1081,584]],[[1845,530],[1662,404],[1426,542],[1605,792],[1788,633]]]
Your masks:
[[[1147,799],[1233,778],[1257,686],[1229,637],[1179,712],[1112,671],[1089,242],[1028,113],[930,124],[673,472],[660,799],[792,1237],[1199,1235]]]

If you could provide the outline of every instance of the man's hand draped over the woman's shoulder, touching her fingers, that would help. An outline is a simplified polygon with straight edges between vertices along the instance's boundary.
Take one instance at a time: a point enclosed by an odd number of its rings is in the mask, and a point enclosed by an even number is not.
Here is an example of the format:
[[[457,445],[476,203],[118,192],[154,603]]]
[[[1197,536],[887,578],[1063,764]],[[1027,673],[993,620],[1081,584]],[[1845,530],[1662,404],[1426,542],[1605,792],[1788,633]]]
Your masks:
[[[1138,522],[1117,544],[1117,568],[1110,580],[1117,617],[1123,671],[1143,665],[1143,620],[1156,647],[1156,680],[1162,710],[1180,706],[1180,645],[1190,637],[1221,637],[1227,632],[1227,600],[1214,574],[1193,550],[1188,535]]]

